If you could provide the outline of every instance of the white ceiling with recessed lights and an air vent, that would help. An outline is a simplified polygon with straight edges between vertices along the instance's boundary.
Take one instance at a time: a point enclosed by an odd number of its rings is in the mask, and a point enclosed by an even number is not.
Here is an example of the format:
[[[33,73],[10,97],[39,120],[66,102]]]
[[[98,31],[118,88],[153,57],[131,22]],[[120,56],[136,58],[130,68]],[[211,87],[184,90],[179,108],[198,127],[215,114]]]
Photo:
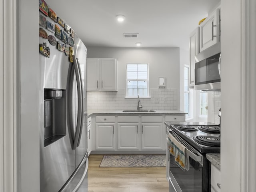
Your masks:
[[[220,0],[46,0],[86,46],[180,47]],[[126,16],[118,23],[116,15]],[[139,33],[124,38],[123,33]]]

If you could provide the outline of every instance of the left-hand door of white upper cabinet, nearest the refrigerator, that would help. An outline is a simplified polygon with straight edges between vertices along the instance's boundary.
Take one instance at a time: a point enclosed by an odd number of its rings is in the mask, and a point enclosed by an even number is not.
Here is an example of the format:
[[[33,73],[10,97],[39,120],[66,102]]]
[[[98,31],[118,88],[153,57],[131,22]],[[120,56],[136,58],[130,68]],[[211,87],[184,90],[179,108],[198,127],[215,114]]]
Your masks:
[[[100,87],[100,59],[87,59],[87,90],[95,91]]]

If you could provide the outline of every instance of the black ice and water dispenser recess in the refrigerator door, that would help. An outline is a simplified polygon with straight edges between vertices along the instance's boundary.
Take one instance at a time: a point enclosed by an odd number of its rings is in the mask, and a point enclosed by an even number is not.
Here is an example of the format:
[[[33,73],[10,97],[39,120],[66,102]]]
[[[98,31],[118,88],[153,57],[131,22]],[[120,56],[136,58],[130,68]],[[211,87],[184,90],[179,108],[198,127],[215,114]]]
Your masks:
[[[44,89],[44,147],[66,135],[66,90]]]

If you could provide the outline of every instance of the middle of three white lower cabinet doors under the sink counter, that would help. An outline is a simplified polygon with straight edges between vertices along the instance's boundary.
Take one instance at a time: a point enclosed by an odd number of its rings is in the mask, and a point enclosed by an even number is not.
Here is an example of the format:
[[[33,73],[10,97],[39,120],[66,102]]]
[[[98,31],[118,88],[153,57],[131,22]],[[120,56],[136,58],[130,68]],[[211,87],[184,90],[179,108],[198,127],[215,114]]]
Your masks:
[[[118,123],[118,150],[138,150],[139,146],[139,124]]]

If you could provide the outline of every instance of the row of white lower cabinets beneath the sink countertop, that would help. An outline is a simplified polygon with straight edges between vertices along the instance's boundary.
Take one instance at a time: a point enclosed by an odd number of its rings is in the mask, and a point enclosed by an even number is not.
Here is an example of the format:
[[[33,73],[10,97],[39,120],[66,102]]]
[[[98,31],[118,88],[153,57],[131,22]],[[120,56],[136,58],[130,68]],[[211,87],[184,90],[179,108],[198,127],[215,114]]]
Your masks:
[[[88,129],[90,137],[92,133],[93,141],[95,140],[91,144],[92,150],[164,151],[166,150],[165,118],[184,121],[185,115],[95,116],[95,121],[94,118],[92,120],[95,122],[95,129],[93,129],[94,123]]]

